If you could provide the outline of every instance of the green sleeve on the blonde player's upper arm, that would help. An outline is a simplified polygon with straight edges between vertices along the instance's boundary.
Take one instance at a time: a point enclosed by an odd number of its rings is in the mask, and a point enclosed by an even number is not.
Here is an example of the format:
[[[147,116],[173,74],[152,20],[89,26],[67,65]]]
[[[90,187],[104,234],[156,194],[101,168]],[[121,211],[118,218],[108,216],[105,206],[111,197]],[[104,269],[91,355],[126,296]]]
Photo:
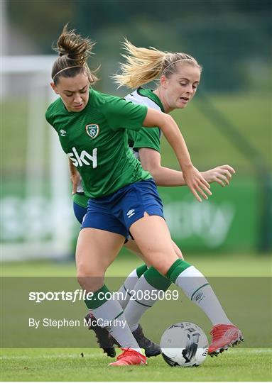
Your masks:
[[[141,131],[134,133],[134,149],[151,148],[161,152],[159,128],[142,128]]]

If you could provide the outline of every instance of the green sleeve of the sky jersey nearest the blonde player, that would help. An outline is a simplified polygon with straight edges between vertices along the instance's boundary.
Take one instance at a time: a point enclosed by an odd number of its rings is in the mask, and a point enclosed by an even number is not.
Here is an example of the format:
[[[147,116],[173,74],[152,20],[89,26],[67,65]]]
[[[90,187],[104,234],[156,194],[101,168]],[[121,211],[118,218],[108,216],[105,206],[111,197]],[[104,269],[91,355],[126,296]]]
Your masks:
[[[138,131],[146,118],[147,106],[114,97],[104,105],[104,116],[113,131],[126,128]]]

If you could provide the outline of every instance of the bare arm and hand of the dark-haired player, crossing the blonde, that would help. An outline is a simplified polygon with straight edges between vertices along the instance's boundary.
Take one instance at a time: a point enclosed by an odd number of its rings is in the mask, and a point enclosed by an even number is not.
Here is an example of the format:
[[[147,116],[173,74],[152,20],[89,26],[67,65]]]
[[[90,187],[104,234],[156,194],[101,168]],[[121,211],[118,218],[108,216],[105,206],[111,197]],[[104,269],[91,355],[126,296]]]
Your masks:
[[[178,125],[173,118],[166,113],[148,108],[146,118],[143,120],[143,126],[151,128],[158,126],[163,132],[166,140],[173,148],[175,155],[183,171],[183,177],[187,186],[198,201],[202,201],[200,195],[207,199],[207,194],[211,195],[210,184],[202,177],[200,172],[192,165],[189,151],[183,135],[180,133]]]

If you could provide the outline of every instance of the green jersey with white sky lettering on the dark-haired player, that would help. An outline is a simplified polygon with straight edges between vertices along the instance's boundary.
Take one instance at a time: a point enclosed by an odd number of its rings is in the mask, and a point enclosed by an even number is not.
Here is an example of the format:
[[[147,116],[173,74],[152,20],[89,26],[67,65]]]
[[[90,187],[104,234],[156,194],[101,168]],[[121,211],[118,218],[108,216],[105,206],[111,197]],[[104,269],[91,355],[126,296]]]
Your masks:
[[[67,111],[61,99],[49,106],[45,118],[77,167],[86,196],[107,196],[128,184],[151,178],[129,150],[127,135],[127,130],[142,128],[146,113],[146,106],[93,89],[89,91],[87,106],[80,112]]]

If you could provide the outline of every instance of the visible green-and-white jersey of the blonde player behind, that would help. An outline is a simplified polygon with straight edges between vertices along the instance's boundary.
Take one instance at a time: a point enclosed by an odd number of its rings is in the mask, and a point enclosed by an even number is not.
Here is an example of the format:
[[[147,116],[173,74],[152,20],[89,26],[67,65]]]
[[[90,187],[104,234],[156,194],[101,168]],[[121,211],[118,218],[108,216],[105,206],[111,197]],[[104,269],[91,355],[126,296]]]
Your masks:
[[[148,108],[163,111],[163,104],[151,89],[138,88],[133,93],[125,97],[126,100],[134,102],[134,104],[146,105]],[[142,128],[141,131],[128,131],[129,146],[138,151],[140,148],[151,148],[161,152],[161,129]]]

